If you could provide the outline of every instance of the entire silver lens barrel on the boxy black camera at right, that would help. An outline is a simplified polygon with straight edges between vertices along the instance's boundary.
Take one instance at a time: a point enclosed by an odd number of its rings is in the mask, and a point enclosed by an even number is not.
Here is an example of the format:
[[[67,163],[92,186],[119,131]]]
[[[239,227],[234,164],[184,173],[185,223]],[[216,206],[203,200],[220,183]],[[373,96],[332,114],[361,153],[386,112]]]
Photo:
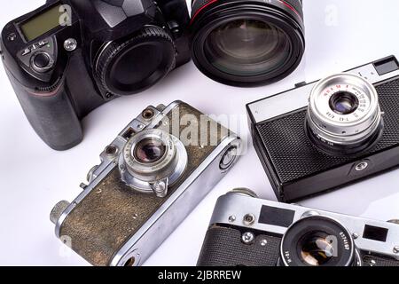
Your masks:
[[[372,83],[351,74],[320,80],[310,94],[307,130],[312,143],[327,154],[357,154],[373,146],[383,119]]]

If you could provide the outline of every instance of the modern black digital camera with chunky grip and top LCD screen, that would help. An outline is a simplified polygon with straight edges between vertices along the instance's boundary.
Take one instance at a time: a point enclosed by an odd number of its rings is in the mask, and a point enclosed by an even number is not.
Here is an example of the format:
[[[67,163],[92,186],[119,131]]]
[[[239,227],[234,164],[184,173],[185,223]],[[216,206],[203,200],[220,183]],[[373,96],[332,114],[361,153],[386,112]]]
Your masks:
[[[4,67],[37,134],[66,150],[91,110],[190,60],[189,21],[184,0],[48,1],[5,26]]]

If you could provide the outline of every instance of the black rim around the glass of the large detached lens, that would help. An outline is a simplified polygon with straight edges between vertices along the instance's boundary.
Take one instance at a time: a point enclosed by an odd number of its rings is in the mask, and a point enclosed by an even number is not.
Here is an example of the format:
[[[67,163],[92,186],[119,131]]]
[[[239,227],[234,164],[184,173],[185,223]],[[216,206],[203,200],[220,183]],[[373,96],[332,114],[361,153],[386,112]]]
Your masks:
[[[305,43],[303,27],[284,12],[263,4],[235,4],[233,6],[217,6],[205,12],[200,19],[193,22],[194,36],[192,40],[192,59],[200,71],[209,78],[234,86],[258,86],[274,83],[291,74],[299,66]],[[207,59],[204,44],[207,36],[216,28],[232,20],[259,20],[270,23],[283,30],[290,40],[290,55],[286,62],[274,70],[265,71],[262,75],[230,75],[215,68]]]

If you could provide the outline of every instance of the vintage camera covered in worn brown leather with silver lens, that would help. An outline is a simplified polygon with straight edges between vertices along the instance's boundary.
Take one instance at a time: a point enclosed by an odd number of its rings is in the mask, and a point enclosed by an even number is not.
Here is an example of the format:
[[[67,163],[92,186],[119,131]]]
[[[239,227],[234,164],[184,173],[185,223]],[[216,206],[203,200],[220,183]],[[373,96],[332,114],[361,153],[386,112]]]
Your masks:
[[[51,211],[56,235],[94,265],[140,265],[231,169],[241,141],[183,102],[149,106]]]

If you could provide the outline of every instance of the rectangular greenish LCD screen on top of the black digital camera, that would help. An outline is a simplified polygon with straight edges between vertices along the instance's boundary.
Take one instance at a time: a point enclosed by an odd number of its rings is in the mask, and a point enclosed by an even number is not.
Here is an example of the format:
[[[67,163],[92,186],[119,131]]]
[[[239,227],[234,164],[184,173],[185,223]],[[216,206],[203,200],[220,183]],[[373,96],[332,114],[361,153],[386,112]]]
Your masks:
[[[50,9],[35,15],[30,20],[20,25],[20,30],[25,36],[27,42],[33,41],[39,36],[57,28],[64,22],[63,14],[65,9],[62,4],[51,7]]]

